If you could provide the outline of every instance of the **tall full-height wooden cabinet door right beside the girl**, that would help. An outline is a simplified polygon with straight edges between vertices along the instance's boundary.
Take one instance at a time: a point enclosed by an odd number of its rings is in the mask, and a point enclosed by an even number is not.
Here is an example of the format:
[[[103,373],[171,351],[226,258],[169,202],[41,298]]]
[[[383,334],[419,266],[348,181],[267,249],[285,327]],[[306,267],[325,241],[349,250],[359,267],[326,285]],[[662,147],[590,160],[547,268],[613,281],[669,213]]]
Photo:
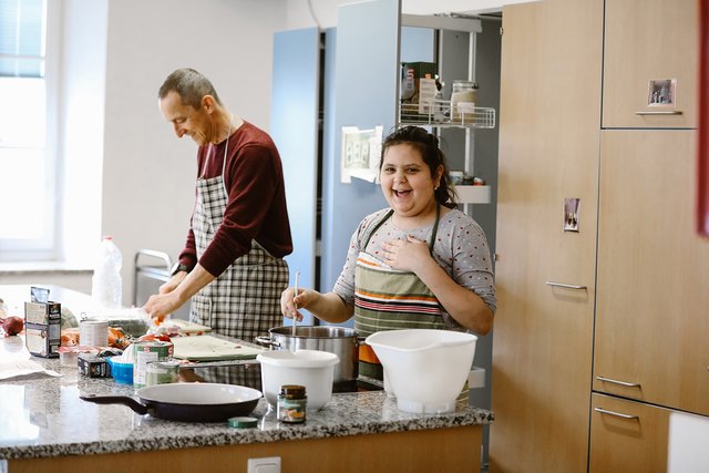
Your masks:
[[[503,30],[490,471],[585,472],[603,0],[506,7]]]

